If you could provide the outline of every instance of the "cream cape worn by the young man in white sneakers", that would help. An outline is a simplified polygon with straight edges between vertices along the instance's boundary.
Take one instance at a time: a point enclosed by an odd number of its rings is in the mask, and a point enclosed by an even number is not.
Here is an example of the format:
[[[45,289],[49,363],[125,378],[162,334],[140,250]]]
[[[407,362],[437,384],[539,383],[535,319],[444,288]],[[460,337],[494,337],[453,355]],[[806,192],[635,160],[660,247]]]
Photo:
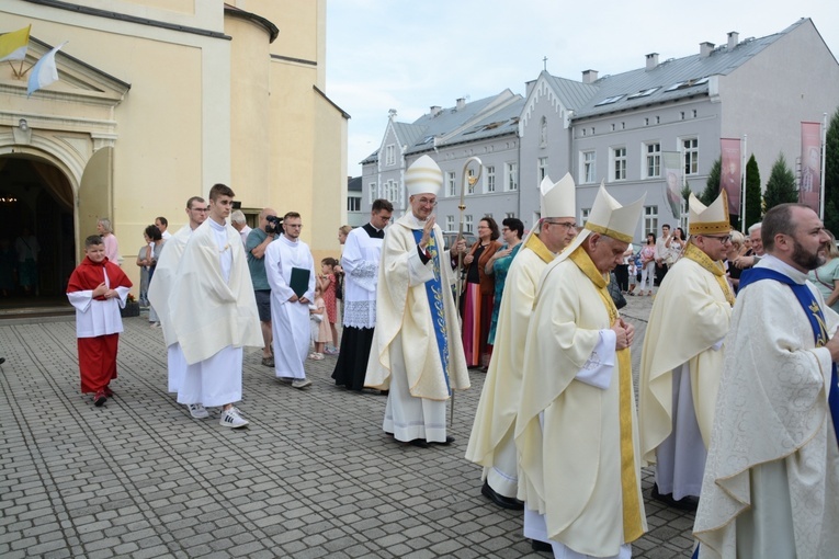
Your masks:
[[[263,345],[241,238],[229,225],[225,231],[227,243],[219,249],[211,219],[201,224],[184,248],[172,284],[169,315],[188,364],[207,360],[227,346]],[[229,281],[220,265],[225,251],[231,263]]]

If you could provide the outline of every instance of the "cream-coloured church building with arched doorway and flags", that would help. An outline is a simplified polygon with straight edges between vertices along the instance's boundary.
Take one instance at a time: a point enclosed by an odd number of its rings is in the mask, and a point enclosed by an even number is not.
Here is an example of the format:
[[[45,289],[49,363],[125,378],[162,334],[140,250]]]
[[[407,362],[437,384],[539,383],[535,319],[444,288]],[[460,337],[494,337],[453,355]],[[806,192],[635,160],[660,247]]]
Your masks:
[[[298,212],[316,259],[338,253],[349,115],[325,93],[326,0],[0,4],[0,33],[29,24],[24,70],[68,43],[31,98],[0,65],[0,239],[35,231],[43,295],[64,293],[104,216],[136,294],[143,229],[177,230],[218,182],[251,219]]]

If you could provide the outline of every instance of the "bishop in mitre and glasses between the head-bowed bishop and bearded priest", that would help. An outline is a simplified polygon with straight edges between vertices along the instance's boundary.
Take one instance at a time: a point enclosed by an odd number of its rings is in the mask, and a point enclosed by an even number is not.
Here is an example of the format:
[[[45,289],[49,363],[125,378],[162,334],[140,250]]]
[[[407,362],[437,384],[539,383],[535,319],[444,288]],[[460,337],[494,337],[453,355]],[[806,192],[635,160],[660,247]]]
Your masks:
[[[725,191],[707,207],[691,194],[689,209],[690,239],[649,315],[638,420],[642,458],[656,465],[653,498],[695,510],[734,294],[723,266],[732,242]]]

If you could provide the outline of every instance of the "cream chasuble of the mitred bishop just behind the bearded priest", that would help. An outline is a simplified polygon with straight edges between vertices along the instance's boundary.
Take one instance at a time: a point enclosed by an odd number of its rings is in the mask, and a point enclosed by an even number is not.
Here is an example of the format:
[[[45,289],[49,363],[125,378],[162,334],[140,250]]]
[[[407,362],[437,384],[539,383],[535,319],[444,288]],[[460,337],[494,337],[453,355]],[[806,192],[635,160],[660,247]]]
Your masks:
[[[689,243],[656,294],[644,336],[638,379],[644,461],[656,461],[656,448],[672,431],[672,372],[685,363],[696,421],[707,447],[723,374],[719,342],[728,333],[733,304],[722,265]]]

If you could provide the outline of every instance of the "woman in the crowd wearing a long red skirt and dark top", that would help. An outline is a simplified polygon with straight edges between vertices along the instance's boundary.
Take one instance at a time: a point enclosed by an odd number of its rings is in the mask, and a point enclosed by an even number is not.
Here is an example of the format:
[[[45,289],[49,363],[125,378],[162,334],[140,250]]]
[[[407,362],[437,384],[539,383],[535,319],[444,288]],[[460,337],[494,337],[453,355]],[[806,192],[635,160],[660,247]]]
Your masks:
[[[478,242],[464,255],[466,283],[461,299],[463,313],[463,350],[466,365],[486,366],[484,361],[489,335],[489,320],[492,316],[492,295],[495,281],[487,275],[489,259],[501,247],[496,239],[500,236],[498,224],[491,217],[485,217],[478,225]]]

